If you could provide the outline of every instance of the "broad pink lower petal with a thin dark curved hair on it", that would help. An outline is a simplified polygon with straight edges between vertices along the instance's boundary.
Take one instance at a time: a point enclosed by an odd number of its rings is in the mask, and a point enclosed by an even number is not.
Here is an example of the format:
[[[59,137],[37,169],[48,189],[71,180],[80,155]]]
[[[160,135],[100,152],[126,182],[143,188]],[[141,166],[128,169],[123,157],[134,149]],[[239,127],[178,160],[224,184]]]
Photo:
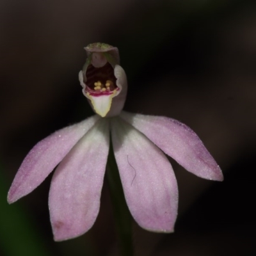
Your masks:
[[[125,199],[136,222],[155,232],[173,232],[178,188],[166,156],[121,118],[111,120],[111,136]]]

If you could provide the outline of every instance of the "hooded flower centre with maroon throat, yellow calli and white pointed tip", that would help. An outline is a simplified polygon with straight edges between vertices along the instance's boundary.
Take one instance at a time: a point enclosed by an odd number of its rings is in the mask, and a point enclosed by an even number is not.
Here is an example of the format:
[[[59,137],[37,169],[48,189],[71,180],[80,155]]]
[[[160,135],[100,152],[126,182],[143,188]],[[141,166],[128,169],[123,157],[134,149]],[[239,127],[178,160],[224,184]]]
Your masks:
[[[85,47],[88,58],[79,72],[84,96],[90,100],[98,115],[119,115],[124,107],[127,80],[119,65],[118,49],[108,44],[90,44]]]

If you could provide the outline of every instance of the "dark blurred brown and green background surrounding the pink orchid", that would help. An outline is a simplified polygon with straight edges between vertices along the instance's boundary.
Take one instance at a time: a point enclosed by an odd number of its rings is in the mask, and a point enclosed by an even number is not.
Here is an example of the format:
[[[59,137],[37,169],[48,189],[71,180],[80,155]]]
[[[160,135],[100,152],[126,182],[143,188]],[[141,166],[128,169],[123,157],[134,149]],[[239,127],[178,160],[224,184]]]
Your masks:
[[[6,202],[33,145],[93,114],[78,81],[92,42],[120,51],[124,109],[187,124],[225,176],[203,180],[170,159],[175,232],[133,223],[135,255],[256,255],[255,14],[248,0],[0,0],[0,255],[118,255],[107,182],[93,228],[60,243],[47,206],[52,175]]]

